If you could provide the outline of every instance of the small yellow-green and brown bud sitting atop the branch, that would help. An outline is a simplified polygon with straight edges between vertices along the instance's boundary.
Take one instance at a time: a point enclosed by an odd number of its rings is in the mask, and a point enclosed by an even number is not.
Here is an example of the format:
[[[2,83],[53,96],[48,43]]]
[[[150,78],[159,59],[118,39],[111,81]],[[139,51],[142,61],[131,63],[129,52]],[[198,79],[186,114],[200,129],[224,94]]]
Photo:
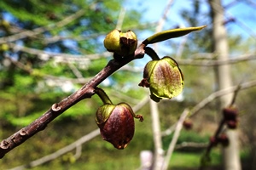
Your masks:
[[[114,56],[125,57],[135,52],[137,48],[137,36],[131,30],[121,32],[117,29],[108,33],[104,39],[104,47]]]

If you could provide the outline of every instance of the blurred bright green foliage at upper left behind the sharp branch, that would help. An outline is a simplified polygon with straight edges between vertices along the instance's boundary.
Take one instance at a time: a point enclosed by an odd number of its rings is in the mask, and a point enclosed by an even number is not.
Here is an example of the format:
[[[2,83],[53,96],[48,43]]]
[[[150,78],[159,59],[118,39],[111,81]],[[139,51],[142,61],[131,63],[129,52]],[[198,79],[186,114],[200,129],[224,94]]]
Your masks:
[[[0,14],[12,14],[10,20],[13,26],[23,30],[32,30],[45,26],[42,34],[37,37],[25,37],[20,40],[27,48],[47,50],[49,53],[67,54],[94,54],[106,51],[102,48],[102,34],[112,30],[117,22],[121,1],[1,1]],[[76,14],[80,9],[84,10],[76,20],[67,25],[58,26],[63,20]],[[135,11],[127,11],[132,15],[140,14]],[[137,20],[130,20],[130,24],[137,25]],[[55,26],[56,25],[56,26]],[[4,32],[8,36],[13,32]],[[57,37],[52,41],[51,38]],[[11,54],[19,65],[6,65],[3,55]],[[69,61],[62,58],[47,57],[40,54],[26,52],[15,53],[12,48],[0,55],[0,99],[3,101],[3,109],[0,111],[1,122],[15,126],[25,126],[36,117],[47,111],[51,105],[67,97],[74,90],[81,87],[79,83],[72,82],[77,75],[73,67],[84,78],[94,77],[107,64],[107,58],[87,59],[84,55],[82,62]],[[47,55],[47,54],[46,54]],[[58,56],[61,56],[58,55]],[[70,62],[70,63],[69,63]],[[73,67],[72,67],[73,66]],[[119,73],[124,74],[124,73]],[[121,76],[124,77],[124,76]],[[112,81],[119,82],[116,77]],[[71,89],[65,93],[64,85],[70,84]],[[22,99],[22,100],[20,100]],[[120,101],[119,101],[120,102]],[[93,102],[79,103],[68,110],[63,116],[73,119],[81,115],[94,113],[95,105],[101,105],[97,99]]]

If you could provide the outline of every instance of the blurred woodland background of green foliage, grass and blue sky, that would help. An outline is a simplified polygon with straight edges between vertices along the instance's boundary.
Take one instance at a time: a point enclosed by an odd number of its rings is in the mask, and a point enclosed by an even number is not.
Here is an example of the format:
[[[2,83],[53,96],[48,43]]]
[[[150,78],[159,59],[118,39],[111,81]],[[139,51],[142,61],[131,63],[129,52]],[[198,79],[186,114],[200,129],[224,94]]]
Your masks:
[[[256,3],[235,0],[222,4],[233,85],[255,82]],[[161,23],[164,23],[162,30],[207,25],[202,31],[153,46],[160,57],[168,55],[176,59],[185,78],[183,94],[158,104],[162,150],[168,150],[173,139],[172,125],[183,111],[193,111],[218,89],[215,66],[211,65],[215,55],[212,54],[212,15],[207,1],[60,0],[52,3],[34,0],[24,3],[3,0],[0,14],[0,139],[36,120],[51,105],[73,94],[101,71],[112,59],[102,42],[114,28],[132,30],[143,41]],[[100,85],[113,103],[125,101],[144,116],[144,122],[136,122],[134,138],[125,150],[114,149],[98,135],[95,113],[102,101],[93,96],[73,105],[44,131],[11,150],[0,160],[0,166],[8,169],[29,164],[85,135],[86,143],[34,168],[140,168],[142,151],[154,151],[155,147],[148,90],[137,86],[148,60],[144,57],[132,61]],[[236,96],[241,166],[252,169],[256,159],[255,98],[254,85]],[[198,169],[221,116],[216,99],[204,105],[195,116],[188,117],[186,121],[192,122],[193,127],[181,131],[169,168]],[[222,166],[221,148],[218,145],[212,150],[208,168]]]

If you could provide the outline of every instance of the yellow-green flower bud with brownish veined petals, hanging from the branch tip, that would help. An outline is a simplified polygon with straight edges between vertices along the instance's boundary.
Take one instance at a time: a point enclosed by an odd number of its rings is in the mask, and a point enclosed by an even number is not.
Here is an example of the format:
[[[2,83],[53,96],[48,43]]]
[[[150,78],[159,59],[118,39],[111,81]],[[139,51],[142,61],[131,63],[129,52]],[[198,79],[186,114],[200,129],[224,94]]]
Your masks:
[[[144,68],[143,80],[139,86],[149,88],[155,102],[172,99],[183,91],[183,74],[177,62],[171,57],[149,61]]]

